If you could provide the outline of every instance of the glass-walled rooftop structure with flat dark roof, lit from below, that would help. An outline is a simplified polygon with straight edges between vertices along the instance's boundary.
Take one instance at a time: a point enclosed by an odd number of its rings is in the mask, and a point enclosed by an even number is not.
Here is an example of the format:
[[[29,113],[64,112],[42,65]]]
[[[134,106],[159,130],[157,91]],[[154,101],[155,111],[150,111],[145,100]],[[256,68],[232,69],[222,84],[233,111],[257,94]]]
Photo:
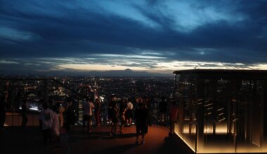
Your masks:
[[[175,133],[195,153],[267,152],[267,71],[174,71]]]

